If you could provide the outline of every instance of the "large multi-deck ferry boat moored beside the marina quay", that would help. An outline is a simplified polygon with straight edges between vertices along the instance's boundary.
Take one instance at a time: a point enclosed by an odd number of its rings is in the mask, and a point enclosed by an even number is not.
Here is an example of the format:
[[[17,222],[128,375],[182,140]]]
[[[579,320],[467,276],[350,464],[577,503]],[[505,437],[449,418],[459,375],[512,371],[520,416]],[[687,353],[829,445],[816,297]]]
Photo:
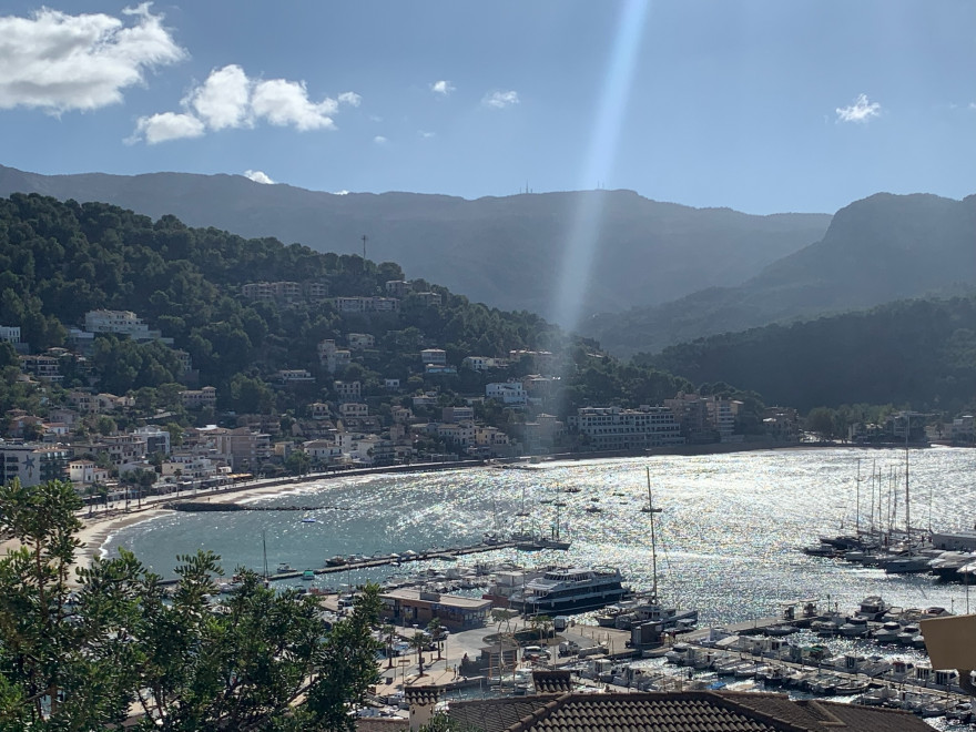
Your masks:
[[[512,594],[509,603],[526,614],[555,617],[604,608],[629,594],[617,568],[558,567],[528,582],[525,591]]]

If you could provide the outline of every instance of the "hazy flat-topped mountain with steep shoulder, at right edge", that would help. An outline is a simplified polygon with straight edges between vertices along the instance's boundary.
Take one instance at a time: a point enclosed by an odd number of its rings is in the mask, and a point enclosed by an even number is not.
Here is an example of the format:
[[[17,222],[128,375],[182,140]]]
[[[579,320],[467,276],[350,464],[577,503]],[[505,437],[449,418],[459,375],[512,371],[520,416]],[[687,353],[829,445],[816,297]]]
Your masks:
[[[736,287],[592,317],[579,329],[617,355],[702,336],[872,307],[976,284],[976,195],[880,193],[842,209],[823,240]]]

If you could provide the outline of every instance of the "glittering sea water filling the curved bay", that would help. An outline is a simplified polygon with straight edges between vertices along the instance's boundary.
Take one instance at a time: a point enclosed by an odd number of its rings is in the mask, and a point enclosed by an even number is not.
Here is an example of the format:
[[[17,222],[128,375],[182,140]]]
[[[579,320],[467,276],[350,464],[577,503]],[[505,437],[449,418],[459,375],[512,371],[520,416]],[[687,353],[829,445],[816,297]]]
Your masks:
[[[497,549],[457,562],[410,562],[278,584],[340,589],[453,565],[516,561],[617,567],[626,583],[648,590],[652,515],[640,509],[648,506],[650,485],[661,509],[653,514],[659,594],[668,604],[698,609],[703,626],[777,616],[784,603],[801,599],[851,612],[872,594],[905,608],[966,612],[967,586],[801,551],[820,536],[858,526],[903,528],[906,466],[913,528],[974,528],[976,450],[837,447],[329,477],[241,499],[307,511],[172,512],[120,529],[102,551],[131,549],[164,578],[174,577],[179,556],[199,549],[216,552],[227,575],[238,567],[263,572],[265,561],[272,572],[281,562],[304,570],[336,555],[470,545],[528,525],[548,533],[558,512],[560,533],[572,540],[568,551]],[[528,517],[516,516],[522,509]]]

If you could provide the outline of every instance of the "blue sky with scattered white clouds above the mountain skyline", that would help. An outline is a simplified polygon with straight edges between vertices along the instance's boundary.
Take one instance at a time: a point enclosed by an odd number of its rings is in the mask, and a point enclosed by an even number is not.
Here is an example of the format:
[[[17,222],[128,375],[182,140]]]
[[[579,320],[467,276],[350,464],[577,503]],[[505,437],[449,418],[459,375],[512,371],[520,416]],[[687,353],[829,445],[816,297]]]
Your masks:
[[[0,163],[750,213],[976,193],[976,3],[3,3]]]

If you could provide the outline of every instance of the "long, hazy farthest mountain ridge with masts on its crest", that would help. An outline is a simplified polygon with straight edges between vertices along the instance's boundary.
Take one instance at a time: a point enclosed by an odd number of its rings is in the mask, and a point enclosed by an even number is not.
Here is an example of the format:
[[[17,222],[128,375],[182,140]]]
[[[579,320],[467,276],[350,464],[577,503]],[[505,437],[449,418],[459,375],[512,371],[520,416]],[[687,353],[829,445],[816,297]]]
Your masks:
[[[549,318],[570,226],[583,205],[600,204],[603,216],[590,284],[580,293],[583,313],[658,305],[704,287],[738,285],[819,241],[831,221],[826,214],[691,209],[631,191],[467,201],[416,193],[336,195],[240,175],[39,175],[0,166],[0,196],[14,192],[112,203],[155,218],[173,214],[191,226],[274,236],[319,252],[359,254],[366,235],[368,258],[398,262],[410,278]]]

